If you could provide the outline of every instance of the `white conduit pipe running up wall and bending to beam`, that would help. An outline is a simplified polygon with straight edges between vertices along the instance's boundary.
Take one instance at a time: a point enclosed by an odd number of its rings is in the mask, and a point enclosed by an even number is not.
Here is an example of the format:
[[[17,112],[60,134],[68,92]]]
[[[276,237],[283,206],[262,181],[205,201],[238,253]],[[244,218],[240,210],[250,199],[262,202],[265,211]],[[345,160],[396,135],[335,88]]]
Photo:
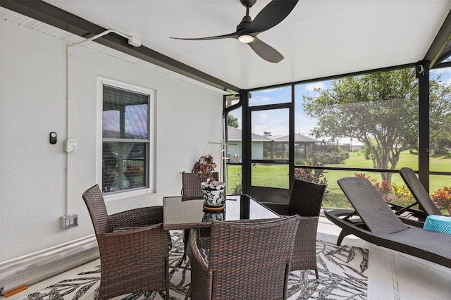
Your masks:
[[[71,57],[73,55],[73,47],[74,46],[82,46],[83,44],[87,44],[89,42],[93,42],[94,39],[98,39],[99,37],[103,37],[104,35],[108,35],[109,33],[116,33],[116,35],[120,35],[121,37],[125,37],[128,39],[128,44],[138,47],[141,46],[141,39],[138,37],[134,37],[131,35],[125,35],[124,33],[115,30],[110,29],[106,30],[104,32],[99,33],[98,35],[94,35],[93,37],[89,37],[88,39],[83,39],[80,42],[76,42],[74,44],[67,44],[66,45],[66,141],[65,141],[65,151],[66,151],[66,208],[65,208],[65,215],[69,214],[69,170],[70,170],[70,152],[68,149],[68,142],[72,141],[73,139],[70,138],[70,102],[71,102],[71,78],[70,78],[70,70],[71,70],[71,64],[72,60]]]

